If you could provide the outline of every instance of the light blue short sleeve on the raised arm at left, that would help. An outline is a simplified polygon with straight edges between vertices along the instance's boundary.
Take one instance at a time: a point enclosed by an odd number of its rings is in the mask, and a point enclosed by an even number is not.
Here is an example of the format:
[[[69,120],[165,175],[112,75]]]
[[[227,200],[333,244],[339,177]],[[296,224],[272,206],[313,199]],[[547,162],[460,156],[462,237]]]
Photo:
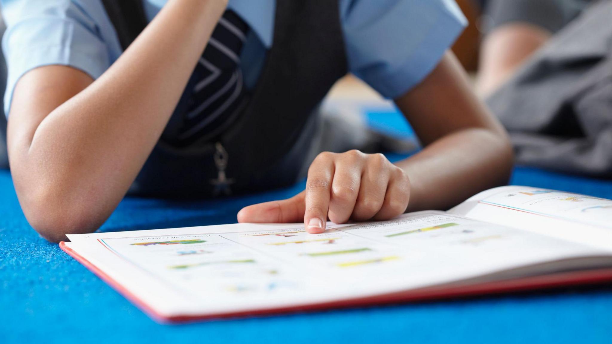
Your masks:
[[[7,31],[2,50],[8,78],[4,111],[8,116],[13,89],[29,70],[69,65],[98,78],[110,66],[106,44],[95,21],[70,0],[1,0]]]

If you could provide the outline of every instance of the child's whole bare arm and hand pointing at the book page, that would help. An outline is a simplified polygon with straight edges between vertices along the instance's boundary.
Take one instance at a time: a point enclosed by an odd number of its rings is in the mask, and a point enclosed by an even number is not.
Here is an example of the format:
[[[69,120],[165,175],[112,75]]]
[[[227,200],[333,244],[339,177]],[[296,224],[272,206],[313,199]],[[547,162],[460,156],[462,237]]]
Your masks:
[[[380,154],[321,154],[310,166],[304,192],[244,208],[238,220],[303,220],[311,233],[320,233],[328,217],[343,223],[447,209],[507,182],[512,168],[507,135],[471,91],[451,53],[395,103],[425,146],[418,154],[395,165]]]

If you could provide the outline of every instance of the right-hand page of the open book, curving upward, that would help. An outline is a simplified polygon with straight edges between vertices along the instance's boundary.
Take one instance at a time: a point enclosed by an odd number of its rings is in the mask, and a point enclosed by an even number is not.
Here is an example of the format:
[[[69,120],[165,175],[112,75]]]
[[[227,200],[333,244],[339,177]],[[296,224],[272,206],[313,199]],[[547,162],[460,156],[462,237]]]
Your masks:
[[[612,200],[605,198],[506,186],[481,192],[449,212],[612,249]]]

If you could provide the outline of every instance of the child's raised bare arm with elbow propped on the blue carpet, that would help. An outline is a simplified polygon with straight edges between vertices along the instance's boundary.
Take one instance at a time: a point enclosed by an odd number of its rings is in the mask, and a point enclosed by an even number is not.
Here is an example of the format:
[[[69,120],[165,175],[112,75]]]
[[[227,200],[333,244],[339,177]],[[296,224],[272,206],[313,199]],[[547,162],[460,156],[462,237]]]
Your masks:
[[[51,65],[18,82],[8,148],[28,221],[50,241],[94,231],[159,140],[225,10],[171,0],[102,77]]]

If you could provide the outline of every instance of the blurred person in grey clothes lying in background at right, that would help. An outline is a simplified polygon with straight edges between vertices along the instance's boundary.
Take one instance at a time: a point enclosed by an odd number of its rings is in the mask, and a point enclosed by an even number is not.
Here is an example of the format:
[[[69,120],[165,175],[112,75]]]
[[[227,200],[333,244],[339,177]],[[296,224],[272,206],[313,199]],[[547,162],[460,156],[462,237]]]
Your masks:
[[[612,176],[612,1],[487,0],[477,86],[520,165]]]

